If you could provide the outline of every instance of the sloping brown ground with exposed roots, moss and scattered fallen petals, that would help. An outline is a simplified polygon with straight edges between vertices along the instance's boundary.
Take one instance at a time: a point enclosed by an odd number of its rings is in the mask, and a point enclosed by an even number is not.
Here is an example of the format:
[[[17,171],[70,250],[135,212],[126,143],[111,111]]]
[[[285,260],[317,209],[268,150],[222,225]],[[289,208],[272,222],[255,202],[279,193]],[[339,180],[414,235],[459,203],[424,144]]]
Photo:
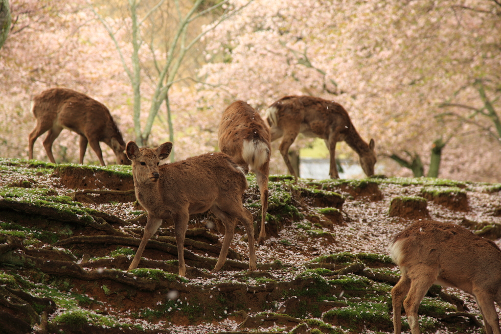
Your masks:
[[[248,180],[243,201],[257,237],[259,190]],[[224,231],[209,212],[190,217],[182,278],[171,221],[139,268],[126,271],[146,222],[130,166],[0,159],[0,332],[390,333],[390,290],[400,275],[388,256],[392,235],[432,219],[500,243],[499,184],[270,180],[258,270],[247,270],[238,227],[223,270],[212,271]],[[423,198],[426,186],[459,187],[464,197],[392,202]],[[482,332],[473,298],[457,289],[433,286],[419,313],[426,333]],[[408,330],[405,314],[403,321]]]

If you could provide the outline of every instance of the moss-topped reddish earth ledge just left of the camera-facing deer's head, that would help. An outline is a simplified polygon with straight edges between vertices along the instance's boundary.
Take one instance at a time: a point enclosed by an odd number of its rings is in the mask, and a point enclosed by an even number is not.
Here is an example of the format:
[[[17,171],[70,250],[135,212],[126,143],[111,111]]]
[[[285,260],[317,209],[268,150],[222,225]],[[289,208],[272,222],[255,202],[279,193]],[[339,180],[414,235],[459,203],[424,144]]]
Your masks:
[[[54,174],[59,176],[61,184],[70,189],[133,190],[132,172],[124,166],[123,171],[116,168],[96,167],[79,164],[61,164]]]

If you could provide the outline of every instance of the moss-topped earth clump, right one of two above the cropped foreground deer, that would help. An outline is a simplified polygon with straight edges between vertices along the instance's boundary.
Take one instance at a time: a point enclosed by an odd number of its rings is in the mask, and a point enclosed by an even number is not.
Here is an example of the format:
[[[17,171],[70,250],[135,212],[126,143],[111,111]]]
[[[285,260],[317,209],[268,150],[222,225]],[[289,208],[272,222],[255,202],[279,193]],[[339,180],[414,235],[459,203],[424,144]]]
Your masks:
[[[458,187],[424,187],[421,196],[454,211],[469,211],[466,192]]]

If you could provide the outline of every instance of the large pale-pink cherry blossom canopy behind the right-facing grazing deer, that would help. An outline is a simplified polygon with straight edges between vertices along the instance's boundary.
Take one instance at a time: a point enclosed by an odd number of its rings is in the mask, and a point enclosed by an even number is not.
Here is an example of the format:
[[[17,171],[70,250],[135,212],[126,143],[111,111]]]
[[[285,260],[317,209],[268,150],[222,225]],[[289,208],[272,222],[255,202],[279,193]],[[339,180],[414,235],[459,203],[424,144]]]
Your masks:
[[[429,175],[441,163],[445,177],[475,170],[499,178],[487,117],[474,128],[468,116],[451,122],[443,115],[451,99],[482,102],[471,89],[479,78],[499,82],[498,18],[491,0],[257,1],[207,36],[207,57],[222,61],[199,74],[211,85],[205,96],[216,101],[264,108],[287,94],[336,99],[362,137],[376,139],[381,157],[407,151],[425,165],[433,157]],[[499,103],[495,91],[490,99]],[[345,145],[341,151],[349,153]]]

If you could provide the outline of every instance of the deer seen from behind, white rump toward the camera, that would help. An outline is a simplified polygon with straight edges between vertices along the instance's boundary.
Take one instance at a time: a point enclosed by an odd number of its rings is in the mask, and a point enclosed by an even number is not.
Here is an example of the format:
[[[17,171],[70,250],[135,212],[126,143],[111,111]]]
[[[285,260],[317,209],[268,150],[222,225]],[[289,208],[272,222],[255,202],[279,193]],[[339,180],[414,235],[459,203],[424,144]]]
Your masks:
[[[224,110],[218,129],[219,149],[228,154],[245,174],[256,175],[261,193],[261,231],[258,244],[266,239],[268,177],[270,173],[270,129],[260,114],[243,101],[235,101]]]

